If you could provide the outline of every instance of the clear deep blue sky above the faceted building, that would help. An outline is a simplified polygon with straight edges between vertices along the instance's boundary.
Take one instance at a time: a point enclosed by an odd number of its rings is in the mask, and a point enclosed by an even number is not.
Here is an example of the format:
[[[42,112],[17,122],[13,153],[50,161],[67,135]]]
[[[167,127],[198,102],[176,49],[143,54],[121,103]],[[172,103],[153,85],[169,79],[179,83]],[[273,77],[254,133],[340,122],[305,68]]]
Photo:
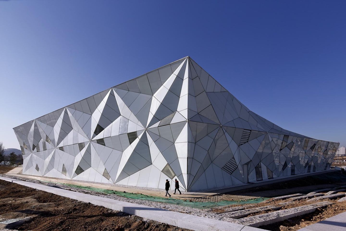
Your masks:
[[[250,110],[346,146],[346,1],[0,1],[0,141],[190,56]]]

